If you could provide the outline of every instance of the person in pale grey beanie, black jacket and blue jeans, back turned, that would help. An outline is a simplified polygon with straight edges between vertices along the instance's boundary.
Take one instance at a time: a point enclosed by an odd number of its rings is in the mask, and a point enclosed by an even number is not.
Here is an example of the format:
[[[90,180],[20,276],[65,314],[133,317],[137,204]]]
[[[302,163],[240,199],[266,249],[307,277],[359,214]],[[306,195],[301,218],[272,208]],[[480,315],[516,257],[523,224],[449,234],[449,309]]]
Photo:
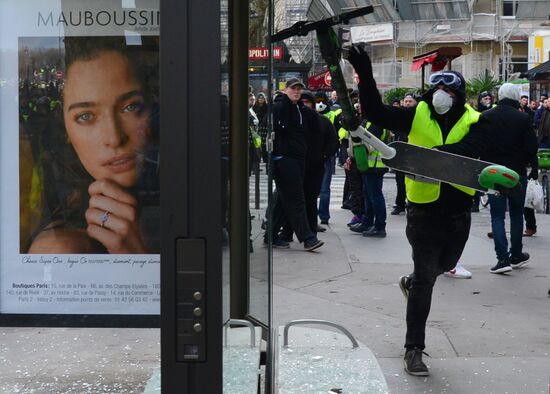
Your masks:
[[[529,115],[519,111],[520,92],[517,85],[503,84],[498,91],[498,105],[483,112],[490,121],[491,128],[498,135],[498,143],[493,144],[481,159],[501,164],[520,176],[522,193],[515,196],[489,195],[491,207],[491,228],[497,264],[490,269],[494,274],[502,274],[520,268],[529,261],[529,254],[523,252],[523,207],[527,186],[526,167],[531,165],[529,178],[538,178],[537,139]],[[510,215],[510,248],[504,229],[506,206]]]

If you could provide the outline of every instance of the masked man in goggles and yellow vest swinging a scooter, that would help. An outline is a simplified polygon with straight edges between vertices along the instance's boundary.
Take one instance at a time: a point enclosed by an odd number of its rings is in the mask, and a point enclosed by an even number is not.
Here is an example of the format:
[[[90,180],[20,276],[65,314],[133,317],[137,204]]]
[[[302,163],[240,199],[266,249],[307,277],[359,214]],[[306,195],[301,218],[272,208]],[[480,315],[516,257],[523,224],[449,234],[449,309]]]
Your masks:
[[[360,102],[366,118],[390,130],[408,134],[409,143],[479,157],[493,140],[486,118],[466,104],[466,83],[455,71],[430,76],[431,88],[416,108],[382,103],[366,52],[353,46],[349,61],[359,75]],[[400,278],[407,297],[405,371],[429,375],[422,361],[426,320],[432,290],[439,275],[454,268],[470,232],[474,191],[427,179],[405,179],[407,239],[412,247],[413,274]]]

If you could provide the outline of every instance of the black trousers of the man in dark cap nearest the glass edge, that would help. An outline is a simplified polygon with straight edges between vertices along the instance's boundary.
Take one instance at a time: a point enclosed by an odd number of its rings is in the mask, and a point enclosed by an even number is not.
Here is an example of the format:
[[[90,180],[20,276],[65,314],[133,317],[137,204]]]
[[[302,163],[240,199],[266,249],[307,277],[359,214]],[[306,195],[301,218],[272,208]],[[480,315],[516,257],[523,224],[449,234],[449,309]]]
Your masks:
[[[306,213],[304,176],[305,160],[283,157],[273,162],[273,179],[277,186],[273,233],[277,234],[288,220],[300,242],[315,237]]]

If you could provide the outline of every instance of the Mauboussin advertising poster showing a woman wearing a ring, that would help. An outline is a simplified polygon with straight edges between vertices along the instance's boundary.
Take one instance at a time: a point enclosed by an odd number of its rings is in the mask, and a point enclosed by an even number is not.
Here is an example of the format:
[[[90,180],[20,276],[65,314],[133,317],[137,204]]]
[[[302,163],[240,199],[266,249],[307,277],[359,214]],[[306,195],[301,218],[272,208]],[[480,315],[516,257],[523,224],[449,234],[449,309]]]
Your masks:
[[[158,314],[158,1],[0,0],[0,314]]]

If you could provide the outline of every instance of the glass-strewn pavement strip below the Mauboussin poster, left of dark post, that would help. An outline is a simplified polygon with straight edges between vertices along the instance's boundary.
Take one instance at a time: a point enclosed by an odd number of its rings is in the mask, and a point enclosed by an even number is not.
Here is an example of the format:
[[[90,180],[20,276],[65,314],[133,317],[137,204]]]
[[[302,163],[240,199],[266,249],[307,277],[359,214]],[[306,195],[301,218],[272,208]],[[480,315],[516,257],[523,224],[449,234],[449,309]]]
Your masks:
[[[0,393],[142,393],[158,329],[0,327]]]

